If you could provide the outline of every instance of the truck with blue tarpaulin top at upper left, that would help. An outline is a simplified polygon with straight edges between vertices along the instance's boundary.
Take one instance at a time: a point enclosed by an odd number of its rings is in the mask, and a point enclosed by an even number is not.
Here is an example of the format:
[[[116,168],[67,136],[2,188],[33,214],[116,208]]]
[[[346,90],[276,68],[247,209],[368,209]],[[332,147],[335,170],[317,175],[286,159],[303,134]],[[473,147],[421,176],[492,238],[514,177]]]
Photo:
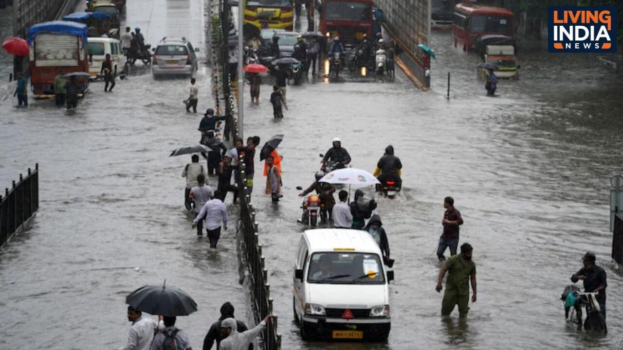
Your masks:
[[[31,88],[36,97],[54,96],[54,78],[65,73],[88,74],[87,26],[69,21],[35,24],[28,30]],[[80,95],[88,90],[88,75],[78,77]]]

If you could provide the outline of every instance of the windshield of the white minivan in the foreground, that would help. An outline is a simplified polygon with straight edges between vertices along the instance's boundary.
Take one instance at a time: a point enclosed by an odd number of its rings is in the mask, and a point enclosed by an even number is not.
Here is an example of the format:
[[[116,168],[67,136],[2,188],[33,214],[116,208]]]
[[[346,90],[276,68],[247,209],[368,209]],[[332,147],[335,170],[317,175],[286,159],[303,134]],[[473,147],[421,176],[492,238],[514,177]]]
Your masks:
[[[379,256],[372,253],[313,253],[307,281],[328,284],[383,284]]]

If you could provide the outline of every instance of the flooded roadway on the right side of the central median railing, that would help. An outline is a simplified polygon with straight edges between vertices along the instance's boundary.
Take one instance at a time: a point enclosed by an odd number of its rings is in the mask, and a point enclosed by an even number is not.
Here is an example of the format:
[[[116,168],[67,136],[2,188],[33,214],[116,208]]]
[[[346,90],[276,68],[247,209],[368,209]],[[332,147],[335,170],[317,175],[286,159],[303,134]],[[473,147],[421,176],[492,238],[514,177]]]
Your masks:
[[[623,285],[621,269],[609,258],[607,202],[609,178],[623,160],[621,81],[593,57],[563,60],[522,50],[520,80],[504,81],[498,97],[486,97],[473,68],[478,57],[452,49],[448,34],[435,33],[432,40],[437,60],[430,92],[414,90],[399,75],[394,83],[291,86],[283,120],[272,118],[268,87],[262,87],[259,108],[249,106],[245,136],[285,134],[285,197],[274,206],[258,194],[264,182],[257,175],[254,196],[272,296],[277,312],[290,319],[280,323],[283,348],[620,348],[614,329],[623,326],[616,317]],[[296,223],[301,199],[295,187],[313,182],[318,153],[334,137],[354,168],[373,171],[388,144],[404,166],[401,196],[377,199],[396,259],[387,344],[305,343],[292,321],[293,247],[304,229]],[[442,295],[434,290],[445,196],[454,197],[464,217],[461,242],[475,249],[478,301],[465,323],[457,315],[449,322],[440,318]],[[609,277],[611,331],[605,337],[567,326],[558,300],[586,250],[597,253]]]

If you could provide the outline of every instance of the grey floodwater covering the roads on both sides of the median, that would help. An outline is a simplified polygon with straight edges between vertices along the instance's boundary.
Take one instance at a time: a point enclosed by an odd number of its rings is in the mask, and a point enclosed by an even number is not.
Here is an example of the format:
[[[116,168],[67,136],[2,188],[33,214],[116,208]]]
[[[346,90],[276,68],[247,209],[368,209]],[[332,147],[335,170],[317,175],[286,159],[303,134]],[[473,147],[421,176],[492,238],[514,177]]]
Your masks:
[[[201,2],[128,6],[128,24],[143,28],[152,44],[164,35],[202,41]],[[620,77],[594,57],[526,49],[520,80],[500,83],[491,98],[473,69],[476,55],[452,49],[448,33],[434,34],[432,47],[437,60],[426,93],[401,74],[393,83],[320,79],[288,87],[290,111],[275,121],[270,86],[262,87],[259,107],[245,90],[245,137],[285,134],[285,196],[273,205],[259,172],[253,196],[283,349],[621,348],[622,272],[609,258],[607,206],[609,178],[621,171]],[[125,295],[165,278],[199,304],[179,321],[194,348],[222,302],[232,301],[241,317],[248,313],[233,230],[217,251],[196,239],[179,177],[188,159],[168,158],[197,140],[199,115],[180,103],[188,82],[155,81],[145,69],[135,74],[118,80],[113,93],[94,83],[75,112],[51,101],[28,110],[1,102],[2,183],[36,162],[41,167],[41,209],[0,253],[2,348],[121,346]],[[208,77],[199,73],[200,108],[213,103]],[[373,171],[388,144],[404,164],[401,196],[378,198],[396,259],[386,344],[306,343],[293,323],[293,247],[304,229],[295,187],[313,181],[318,153],[334,137],[356,168]],[[465,322],[456,314],[440,318],[442,295],[434,290],[445,196],[464,217],[461,241],[475,248],[478,301]],[[609,277],[607,336],[568,326],[558,300],[586,250],[597,253]]]

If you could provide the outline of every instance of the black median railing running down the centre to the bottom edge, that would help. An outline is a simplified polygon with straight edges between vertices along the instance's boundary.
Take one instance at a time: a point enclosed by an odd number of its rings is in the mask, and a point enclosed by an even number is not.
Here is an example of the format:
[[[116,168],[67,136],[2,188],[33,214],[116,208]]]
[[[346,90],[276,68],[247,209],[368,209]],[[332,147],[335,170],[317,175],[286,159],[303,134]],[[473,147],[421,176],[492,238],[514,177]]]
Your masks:
[[[239,166],[239,201],[240,201],[240,225],[239,232],[242,235],[243,261],[249,268],[249,277],[252,285],[252,295],[255,303],[256,319],[273,314],[273,300],[270,297],[270,284],[268,270],[265,265],[262,244],[259,243],[257,222],[255,222],[255,209],[251,204],[251,197],[246,186],[247,179],[244,172],[244,159],[240,158]],[[273,314],[274,315],[274,314]],[[269,326],[262,334],[265,350],[281,349],[281,334],[277,332],[277,315],[272,319]]]

